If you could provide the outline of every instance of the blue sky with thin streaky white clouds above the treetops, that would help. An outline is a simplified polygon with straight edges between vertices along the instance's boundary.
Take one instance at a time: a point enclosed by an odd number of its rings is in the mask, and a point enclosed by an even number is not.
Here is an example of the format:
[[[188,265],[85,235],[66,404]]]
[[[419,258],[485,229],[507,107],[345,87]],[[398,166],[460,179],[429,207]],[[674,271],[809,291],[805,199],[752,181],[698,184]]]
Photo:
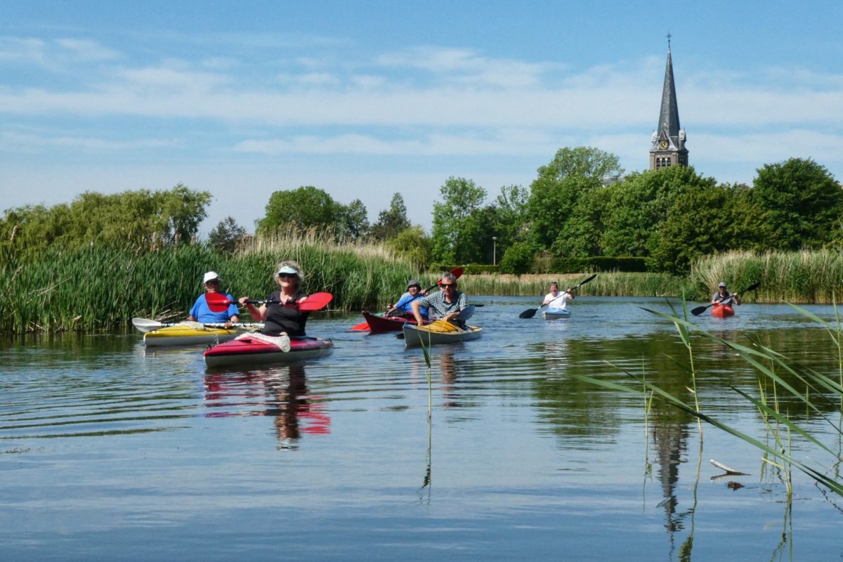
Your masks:
[[[668,31],[698,173],[843,181],[843,3],[690,4],[4,2],[0,210],[183,183],[204,232],[253,230],[315,185],[429,228],[449,176],[493,199],[577,146],[647,169]]]

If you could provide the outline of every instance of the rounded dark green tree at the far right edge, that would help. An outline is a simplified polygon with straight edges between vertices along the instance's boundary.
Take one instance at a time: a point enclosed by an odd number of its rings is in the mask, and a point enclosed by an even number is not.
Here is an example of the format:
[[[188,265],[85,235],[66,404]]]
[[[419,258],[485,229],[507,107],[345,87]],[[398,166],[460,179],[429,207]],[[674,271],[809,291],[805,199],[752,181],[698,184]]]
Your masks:
[[[843,190],[812,159],[765,164],[754,179],[753,195],[764,213],[769,248],[818,248],[835,239]]]

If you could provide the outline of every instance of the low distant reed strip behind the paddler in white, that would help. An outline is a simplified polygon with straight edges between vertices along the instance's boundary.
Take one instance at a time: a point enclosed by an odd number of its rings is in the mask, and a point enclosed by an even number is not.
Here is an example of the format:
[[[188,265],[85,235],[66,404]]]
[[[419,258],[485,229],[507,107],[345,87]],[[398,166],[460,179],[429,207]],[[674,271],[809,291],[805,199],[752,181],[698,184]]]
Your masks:
[[[556,281],[562,290],[577,285],[587,274],[537,275],[466,275],[460,279],[460,289],[471,295],[543,296]],[[692,291],[687,281],[661,273],[599,273],[592,281],[577,289],[578,295],[604,297],[680,297]]]

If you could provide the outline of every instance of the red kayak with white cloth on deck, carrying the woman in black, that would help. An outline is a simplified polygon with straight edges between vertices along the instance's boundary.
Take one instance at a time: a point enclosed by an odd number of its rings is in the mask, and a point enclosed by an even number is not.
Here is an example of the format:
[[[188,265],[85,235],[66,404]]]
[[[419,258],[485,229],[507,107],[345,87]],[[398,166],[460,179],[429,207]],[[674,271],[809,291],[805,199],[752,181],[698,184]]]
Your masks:
[[[290,351],[282,351],[275,340],[262,334],[244,334],[236,340],[215,345],[205,351],[208,367],[220,365],[246,365],[253,363],[292,363],[328,355],[334,342],[321,338],[290,338]]]

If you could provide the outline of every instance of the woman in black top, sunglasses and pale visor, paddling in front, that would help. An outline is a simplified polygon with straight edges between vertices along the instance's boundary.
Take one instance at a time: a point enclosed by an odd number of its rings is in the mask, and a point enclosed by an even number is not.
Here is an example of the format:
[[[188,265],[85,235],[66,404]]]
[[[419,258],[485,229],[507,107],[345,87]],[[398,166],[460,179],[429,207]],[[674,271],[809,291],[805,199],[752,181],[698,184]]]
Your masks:
[[[266,303],[260,308],[246,302],[249,297],[240,297],[239,302],[249,309],[253,320],[264,323],[263,334],[303,336],[309,313],[299,311],[296,306],[308,297],[301,290],[302,267],[295,261],[284,261],[274,277],[281,288],[266,297]]]

